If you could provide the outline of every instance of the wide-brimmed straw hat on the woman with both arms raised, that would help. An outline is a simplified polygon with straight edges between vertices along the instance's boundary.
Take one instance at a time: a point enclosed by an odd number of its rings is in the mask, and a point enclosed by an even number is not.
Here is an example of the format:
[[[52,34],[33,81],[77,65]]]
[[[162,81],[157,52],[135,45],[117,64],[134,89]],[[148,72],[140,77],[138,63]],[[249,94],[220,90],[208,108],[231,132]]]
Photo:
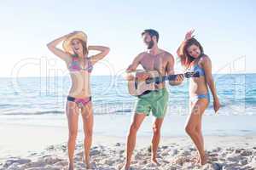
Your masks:
[[[73,53],[73,49],[70,46],[70,42],[73,39],[79,39],[84,42],[87,42],[87,35],[83,31],[75,31],[70,36],[68,36],[62,43],[62,48],[68,53]]]

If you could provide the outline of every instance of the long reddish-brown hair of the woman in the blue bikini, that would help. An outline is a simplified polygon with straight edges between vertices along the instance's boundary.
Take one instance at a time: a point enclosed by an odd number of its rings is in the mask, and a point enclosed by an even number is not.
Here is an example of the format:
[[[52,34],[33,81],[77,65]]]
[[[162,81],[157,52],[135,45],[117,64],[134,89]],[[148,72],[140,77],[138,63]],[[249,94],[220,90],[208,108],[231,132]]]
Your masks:
[[[204,49],[201,46],[201,43],[198,42],[194,37],[190,38],[186,42],[183,42],[181,47],[177,51],[177,56],[179,57],[181,61],[181,65],[185,66],[186,68],[189,67],[189,65],[193,62],[195,59],[193,56],[189,55],[188,48],[191,45],[195,45],[200,48],[201,54],[204,53]]]

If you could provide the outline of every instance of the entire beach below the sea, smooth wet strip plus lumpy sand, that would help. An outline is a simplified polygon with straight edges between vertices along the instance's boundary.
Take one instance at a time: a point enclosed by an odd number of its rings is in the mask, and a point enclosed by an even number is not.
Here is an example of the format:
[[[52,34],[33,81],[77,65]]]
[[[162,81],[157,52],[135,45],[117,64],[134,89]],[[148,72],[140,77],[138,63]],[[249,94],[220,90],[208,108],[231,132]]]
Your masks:
[[[228,118],[232,121],[226,122]],[[90,151],[95,169],[110,170],[122,166],[130,120],[130,115],[96,116]],[[156,167],[150,163],[148,148],[152,132],[151,118],[148,117],[137,133],[131,169],[255,169],[256,133],[253,120],[254,116],[205,116],[205,148],[210,163],[201,167],[195,164],[195,146],[183,131],[185,116],[167,116],[158,150],[160,166]],[[67,169],[66,121],[64,115],[2,116],[0,169]],[[106,122],[108,128],[100,126]],[[84,169],[83,138],[83,130],[79,126],[74,156],[76,169]]]

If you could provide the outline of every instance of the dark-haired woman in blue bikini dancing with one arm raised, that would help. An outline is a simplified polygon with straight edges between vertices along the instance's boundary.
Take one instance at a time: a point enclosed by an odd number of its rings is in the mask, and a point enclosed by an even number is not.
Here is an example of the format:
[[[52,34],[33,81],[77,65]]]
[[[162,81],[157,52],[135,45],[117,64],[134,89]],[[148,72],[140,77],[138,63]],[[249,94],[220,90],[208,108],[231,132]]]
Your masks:
[[[193,35],[194,31],[187,32],[185,40],[177,49],[177,55],[181,65],[190,71],[198,71],[200,77],[190,78],[189,82],[189,117],[185,130],[193,140],[199,157],[197,163],[207,163],[207,155],[204,149],[204,139],[201,133],[201,118],[210,103],[208,87],[212,92],[213,108],[217,112],[220,103],[212,77],[211,59],[204,54],[201,43]]]

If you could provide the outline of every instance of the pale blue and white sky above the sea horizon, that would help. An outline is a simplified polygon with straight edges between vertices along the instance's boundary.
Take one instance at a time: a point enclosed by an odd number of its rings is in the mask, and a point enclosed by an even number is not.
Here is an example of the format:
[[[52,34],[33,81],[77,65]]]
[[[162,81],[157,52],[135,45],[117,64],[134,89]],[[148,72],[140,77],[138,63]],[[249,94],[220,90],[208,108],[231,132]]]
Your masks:
[[[160,33],[159,47],[175,59],[186,31],[195,29],[212,73],[256,72],[254,0],[104,0],[0,2],[0,77],[67,75],[61,59],[46,44],[72,31],[84,31],[89,45],[111,48],[93,75],[117,75],[146,48],[147,28]],[[176,59],[175,69],[181,71]]]

